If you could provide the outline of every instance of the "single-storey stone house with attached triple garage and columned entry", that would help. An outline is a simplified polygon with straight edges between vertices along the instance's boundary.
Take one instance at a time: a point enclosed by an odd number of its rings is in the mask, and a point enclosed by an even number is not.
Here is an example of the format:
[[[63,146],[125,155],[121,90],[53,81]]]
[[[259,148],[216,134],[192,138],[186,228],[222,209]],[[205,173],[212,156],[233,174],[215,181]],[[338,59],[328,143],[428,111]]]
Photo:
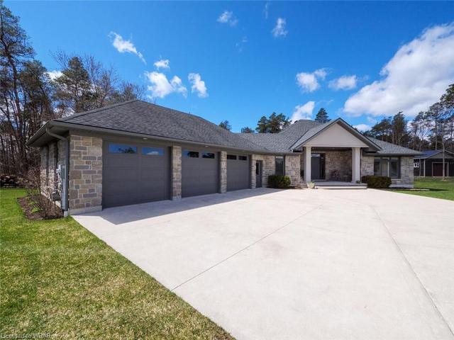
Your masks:
[[[271,174],[289,176],[295,187],[356,183],[363,175],[411,187],[418,154],[365,137],[341,118],[298,120],[278,134],[239,134],[137,100],[51,120],[28,145],[40,148],[43,193],[62,193],[70,214],[258,188]]]

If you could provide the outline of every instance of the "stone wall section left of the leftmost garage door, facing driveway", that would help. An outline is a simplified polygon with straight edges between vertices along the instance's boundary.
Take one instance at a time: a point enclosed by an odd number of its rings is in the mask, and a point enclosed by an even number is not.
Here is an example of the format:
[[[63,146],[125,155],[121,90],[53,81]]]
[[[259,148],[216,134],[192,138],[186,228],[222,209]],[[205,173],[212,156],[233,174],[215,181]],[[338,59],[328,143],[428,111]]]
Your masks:
[[[101,210],[102,140],[70,136],[70,213]]]

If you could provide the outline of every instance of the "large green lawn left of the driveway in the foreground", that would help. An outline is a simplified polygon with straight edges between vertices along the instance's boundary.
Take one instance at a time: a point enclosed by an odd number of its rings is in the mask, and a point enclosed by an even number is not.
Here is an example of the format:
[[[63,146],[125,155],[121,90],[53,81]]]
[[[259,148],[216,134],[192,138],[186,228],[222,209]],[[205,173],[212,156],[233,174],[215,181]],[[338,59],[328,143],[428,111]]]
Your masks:
[[[0,191],[0,334],[232,339],[71,217],[26,220]]]

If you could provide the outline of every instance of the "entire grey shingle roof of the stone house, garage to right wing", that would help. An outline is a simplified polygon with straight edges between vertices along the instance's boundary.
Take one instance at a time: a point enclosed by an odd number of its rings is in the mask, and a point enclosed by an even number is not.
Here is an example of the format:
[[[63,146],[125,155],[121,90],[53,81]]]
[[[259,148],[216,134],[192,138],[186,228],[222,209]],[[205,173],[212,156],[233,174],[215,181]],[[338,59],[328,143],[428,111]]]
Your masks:
[[[265,153],[291,152],[296,143],[303,144],[334,123],[331,121],[320,124],[314,120],[297,120],[279,133],[233,133],[196,115],[138,100],[70,115],[57,121]],[[381,148],[377,154],[419,154],[406,147],[375,138],[365,138]]]

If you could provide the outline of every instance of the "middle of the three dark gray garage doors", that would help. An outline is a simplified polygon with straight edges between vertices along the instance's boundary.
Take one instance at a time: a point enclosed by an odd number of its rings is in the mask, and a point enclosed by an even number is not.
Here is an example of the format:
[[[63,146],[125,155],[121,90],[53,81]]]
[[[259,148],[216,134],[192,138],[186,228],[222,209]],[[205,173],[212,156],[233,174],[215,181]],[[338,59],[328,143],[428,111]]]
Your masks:
[[[206,195],[218,192],[218,153],[182,150],[182,196]]]

